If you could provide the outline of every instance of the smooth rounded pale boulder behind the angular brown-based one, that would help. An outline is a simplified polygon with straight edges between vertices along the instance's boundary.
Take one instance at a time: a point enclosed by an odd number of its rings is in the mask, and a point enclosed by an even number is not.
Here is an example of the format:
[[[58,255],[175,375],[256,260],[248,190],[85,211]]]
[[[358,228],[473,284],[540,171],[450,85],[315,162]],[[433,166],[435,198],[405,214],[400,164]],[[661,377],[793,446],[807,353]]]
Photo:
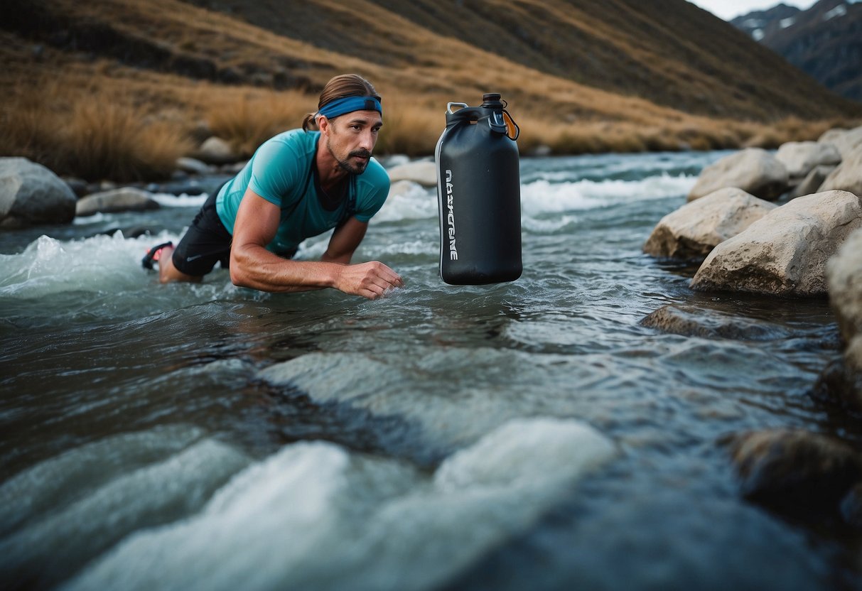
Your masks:
[[[689,192],[688,201],[736,187],[766,201],[775,201],[788,187],[787,169],[761,148],[746,148],[703,169]]]

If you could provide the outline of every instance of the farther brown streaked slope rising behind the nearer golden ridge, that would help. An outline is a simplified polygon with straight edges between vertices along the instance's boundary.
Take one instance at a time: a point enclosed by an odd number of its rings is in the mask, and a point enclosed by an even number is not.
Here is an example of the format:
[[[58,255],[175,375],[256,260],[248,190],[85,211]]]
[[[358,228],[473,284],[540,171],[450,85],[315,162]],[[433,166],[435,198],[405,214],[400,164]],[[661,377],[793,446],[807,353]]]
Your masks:
[[[459,40],[531,70],[687,113],[751,118],[834,116],[846,104],[727,23],[684,0],[188,0],[290,39],[390,68],[447,47],[445,68],[478,59]],[[430,45],[422,37],[432,34]],[[476,68],[493,62],[475,63]],[[494,67],[501,67],[494,65]]]

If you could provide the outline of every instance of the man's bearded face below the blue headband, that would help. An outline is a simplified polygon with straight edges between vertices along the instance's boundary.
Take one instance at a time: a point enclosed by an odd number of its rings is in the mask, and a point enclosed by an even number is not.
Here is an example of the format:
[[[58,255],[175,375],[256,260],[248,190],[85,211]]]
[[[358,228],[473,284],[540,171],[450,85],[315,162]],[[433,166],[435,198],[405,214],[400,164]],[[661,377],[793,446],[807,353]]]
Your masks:
[[[353,111],[329,121],[326,146],[341,170],[365,172],[382,126],[377,111]]]

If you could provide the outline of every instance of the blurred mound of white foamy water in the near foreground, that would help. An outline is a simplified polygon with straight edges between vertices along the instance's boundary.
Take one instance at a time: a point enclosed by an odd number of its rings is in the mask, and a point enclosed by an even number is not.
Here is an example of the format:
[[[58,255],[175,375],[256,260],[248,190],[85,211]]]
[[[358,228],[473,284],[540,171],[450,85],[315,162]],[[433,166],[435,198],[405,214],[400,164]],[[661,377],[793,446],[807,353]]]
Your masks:
[[[589,426],[545,418],[510,421],[431,476],[328,443],[288,445],[197,516],[135,534],[66,588],[435,588],[615,453]]]

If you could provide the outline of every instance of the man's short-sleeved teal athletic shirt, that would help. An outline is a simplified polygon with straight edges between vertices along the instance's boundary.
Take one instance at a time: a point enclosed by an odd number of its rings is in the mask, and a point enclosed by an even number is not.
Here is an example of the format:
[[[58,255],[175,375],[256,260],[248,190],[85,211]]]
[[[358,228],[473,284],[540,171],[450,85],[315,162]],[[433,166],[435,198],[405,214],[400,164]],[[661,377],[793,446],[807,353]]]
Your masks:
[[[281,208],[278,232],[266,249],[291,256],[306,238],[336,227],[345,214],[349,196],[338,208],[323,208],[315,187],[312,165],[320,132],[292,129],[266,140],[236,177],[222,187],[215,200],[215,211],[233,235],[236,212],[247,188]],[[389,175],[371,159],[365,172],[351,175],[348,190],[356,197],[355,217],[369,221],[389,195]]]

